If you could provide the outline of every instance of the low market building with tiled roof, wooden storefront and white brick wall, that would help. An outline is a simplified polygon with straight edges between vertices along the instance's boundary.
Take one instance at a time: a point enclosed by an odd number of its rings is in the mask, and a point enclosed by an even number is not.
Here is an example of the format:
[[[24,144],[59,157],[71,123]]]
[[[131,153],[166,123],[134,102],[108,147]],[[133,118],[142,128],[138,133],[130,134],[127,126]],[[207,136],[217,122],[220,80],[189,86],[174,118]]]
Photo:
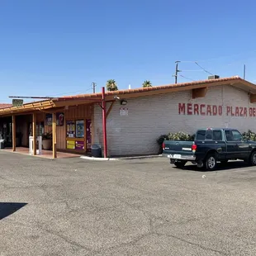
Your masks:
[[[208,126],[256,131],[255,102],[256,85],[239,77],[59,97],[0,109],[0,135],[8,120],[9,130],[23,134],[22,146],[34,129],[37,135],[53,131],[54,151],[84,154],[92,144],[104,150],[103,107],[107,156],[157,154],[156,139],[168,132],[193,134]]]

